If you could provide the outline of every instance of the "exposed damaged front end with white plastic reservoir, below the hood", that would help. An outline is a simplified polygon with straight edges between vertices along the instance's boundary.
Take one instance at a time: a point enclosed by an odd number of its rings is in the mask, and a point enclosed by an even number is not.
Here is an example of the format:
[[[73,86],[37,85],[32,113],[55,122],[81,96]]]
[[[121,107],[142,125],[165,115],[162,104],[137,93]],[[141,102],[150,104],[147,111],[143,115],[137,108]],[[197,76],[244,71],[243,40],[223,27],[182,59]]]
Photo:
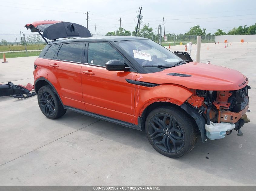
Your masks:
[[[249,89],[251,87],[248,85],[234,91],[191,89],[193,95],[181,107],[195,119],[203,142],[207,138],[224,138],[225,135],[230,135],[232,130],[237,130],[237,135],[241,136],[241,127],[244,123],[250,122],[246,115]],[[201,122],[203,119],[204,125]]]

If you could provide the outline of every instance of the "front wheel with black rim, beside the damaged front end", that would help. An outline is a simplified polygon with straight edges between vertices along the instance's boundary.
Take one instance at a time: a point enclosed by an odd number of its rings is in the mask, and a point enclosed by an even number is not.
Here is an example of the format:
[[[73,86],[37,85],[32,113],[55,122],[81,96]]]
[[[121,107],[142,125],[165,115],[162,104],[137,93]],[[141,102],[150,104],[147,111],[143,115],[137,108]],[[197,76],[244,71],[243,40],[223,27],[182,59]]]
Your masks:
[[[145,121],[145,131],[155,150],[170,158],[187,154],[198,139],[190,116],[176,107],[161,106],[152,110]]]

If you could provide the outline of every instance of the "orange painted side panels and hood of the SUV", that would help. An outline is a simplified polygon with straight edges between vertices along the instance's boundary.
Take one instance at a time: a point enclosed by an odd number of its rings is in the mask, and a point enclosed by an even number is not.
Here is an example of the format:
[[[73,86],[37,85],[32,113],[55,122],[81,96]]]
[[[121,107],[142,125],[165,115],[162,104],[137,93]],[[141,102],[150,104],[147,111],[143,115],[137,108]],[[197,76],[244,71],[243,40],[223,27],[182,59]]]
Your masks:
[[[219,66],[196,62],[149,74],[107,71],[104,67],[42,58],[37,58],[35,63],[38,65],[34,71],[35,81],[47,76],[64,105],[135,125],[138,125],[138,117],[145,108],[154,102],[166,101],[180,106],[186,100],[192,103],[197,98],[191,97],[193,89],[237,90],[241,88],[238,84],[248,83],[238,71],[224,67],[220,70]],[[94,75],[86,74],[86,71]],[[192,77],[167,75],[172,72]],[[231,75],[226,75],[227,72]],[[126,79],[160,85],[144,87],[127,83]],[[200,105],[201,99],[196,100]]]

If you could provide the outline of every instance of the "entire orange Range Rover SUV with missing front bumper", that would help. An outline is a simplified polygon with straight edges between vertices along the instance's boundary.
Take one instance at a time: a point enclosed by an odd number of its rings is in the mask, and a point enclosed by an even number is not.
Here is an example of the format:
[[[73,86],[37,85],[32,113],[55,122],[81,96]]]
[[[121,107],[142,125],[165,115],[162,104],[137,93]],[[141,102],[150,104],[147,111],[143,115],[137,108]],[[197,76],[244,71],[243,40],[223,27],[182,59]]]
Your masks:
[[[191,151],[198,136],[242,135],[249,122],[250,86],[238,71],[188,62],[146,38],[91,37],[74,23],[25,27],[54,40],[34,63],[38,104],[49,119],[72,110],[145,129],[155,150],[171,158]],[[65,37],[78,38],[56,40]]]

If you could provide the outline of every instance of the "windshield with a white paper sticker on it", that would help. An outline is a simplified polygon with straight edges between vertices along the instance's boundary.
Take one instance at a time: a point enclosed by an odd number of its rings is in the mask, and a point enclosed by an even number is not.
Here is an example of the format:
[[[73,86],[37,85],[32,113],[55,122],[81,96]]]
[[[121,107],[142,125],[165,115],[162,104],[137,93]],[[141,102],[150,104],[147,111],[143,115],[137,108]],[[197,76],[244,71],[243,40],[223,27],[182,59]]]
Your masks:
[[[173,66],[182,61],[178,56],[152,40],[126,40],[116,42],[143,67],[145,72],[159,72],[166,68],[145,66]]]

